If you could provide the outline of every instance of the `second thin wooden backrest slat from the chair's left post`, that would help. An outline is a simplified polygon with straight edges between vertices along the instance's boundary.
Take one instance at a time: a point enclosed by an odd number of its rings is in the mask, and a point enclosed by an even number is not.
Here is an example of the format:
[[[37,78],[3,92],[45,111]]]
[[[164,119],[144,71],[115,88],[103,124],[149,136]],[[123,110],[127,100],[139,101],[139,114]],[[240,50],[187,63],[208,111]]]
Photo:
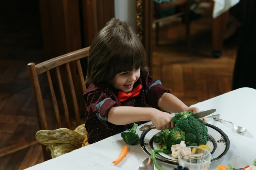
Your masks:
[[[60,97],[61,97],[61,100],[62,100],[62,103],[63,103],[63,110],[64,110],[64,115],[65,115],[66,125],[67,125],[67,128],[70,129],[68,106],[67,106],[67,102],[66,102],[64,89],[63,89],[63,84],[62,84],[62,81],[61,81],[60,68],[59,67],[56,67],[56,75],[57,75],[57,81],[58,81],[58,85],[59,85],[59,89],[60,89]]]

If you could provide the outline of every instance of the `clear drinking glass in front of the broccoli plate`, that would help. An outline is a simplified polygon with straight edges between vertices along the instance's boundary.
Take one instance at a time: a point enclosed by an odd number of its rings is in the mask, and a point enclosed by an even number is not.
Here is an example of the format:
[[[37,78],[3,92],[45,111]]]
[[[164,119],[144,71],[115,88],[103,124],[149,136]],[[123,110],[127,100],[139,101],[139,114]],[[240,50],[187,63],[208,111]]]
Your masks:
[[[210,162],[212,159],[212,154],[200,147],[190,146],[187,147],[191,149],[191,155],[183,156],[182,150],[180,149],[178,153],[179,165],[182,167],[188,167],[189,170],[207,170],[210,167]]]

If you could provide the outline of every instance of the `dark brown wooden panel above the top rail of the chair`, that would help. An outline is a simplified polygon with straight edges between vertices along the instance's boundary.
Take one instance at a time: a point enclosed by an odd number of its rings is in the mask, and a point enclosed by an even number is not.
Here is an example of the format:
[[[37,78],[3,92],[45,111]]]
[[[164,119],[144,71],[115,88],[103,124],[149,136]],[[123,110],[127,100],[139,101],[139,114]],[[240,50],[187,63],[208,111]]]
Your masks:
[[[78,0],[40,0],[45,60],[81,49]]]

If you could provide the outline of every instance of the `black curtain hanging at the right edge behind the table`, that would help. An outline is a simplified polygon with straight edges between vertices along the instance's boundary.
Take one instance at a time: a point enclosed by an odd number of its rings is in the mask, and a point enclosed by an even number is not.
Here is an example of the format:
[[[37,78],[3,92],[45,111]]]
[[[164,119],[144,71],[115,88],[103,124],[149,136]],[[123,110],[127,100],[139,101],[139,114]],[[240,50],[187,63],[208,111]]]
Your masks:
[[[256,89],[256,0],[245,0],[243,12],[232,90],[241,87]]]

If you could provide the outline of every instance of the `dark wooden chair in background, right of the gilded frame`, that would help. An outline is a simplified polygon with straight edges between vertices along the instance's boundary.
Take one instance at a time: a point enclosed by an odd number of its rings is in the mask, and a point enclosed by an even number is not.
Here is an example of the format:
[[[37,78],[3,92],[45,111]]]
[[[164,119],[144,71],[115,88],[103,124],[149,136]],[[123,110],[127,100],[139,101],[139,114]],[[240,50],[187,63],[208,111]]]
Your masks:
[[[183,6],[184,11],[180,12],[178,14],[174,14],[168,17],[159,18],[159,10],[165,9],[169,7],[176,7],[176,6]],[[156,10],[156,19],[153,20],[153,23],[156,23],[156,45],[158,45],[159,41],[159,22],[164,20],[170,20],[173,18],[177,18],[181,15],[184,15],[185,24],[186,24],[186,40],[187,40],[187,46],[190,48],[190,19],[189,19],[189,12],[190,12],[190,1],[189,0],[177,0],[174,2],[164,3],[164,4],[154,4],[153,9]]]

